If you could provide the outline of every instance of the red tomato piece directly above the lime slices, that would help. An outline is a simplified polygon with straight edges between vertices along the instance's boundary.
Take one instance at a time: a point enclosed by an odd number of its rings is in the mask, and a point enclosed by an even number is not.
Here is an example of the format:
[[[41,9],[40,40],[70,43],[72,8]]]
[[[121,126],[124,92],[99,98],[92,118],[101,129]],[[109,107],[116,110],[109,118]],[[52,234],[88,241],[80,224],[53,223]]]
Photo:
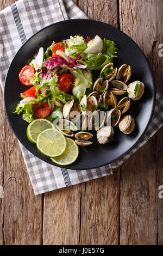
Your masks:
[[[34,114],[34,119],[37,119],[37,118],[45,118],[45,117],[47,117],[47,116],[50,114],[50,112],[51,112],[49,106],[48,106],[46,103],[44,103],[44,102],[41,102],[41,103],[40,103],[40,106],[39,106],[38,103],[36,103],[36,104],[33,106],[32,110],[33,110],[33,114]]]

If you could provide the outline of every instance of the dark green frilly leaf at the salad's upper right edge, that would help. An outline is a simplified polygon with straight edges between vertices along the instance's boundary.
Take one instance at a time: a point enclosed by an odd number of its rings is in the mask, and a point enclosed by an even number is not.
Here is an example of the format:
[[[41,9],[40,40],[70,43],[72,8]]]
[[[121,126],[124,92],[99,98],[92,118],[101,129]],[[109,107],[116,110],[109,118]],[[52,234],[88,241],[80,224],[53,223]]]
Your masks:
[[[117,48],[115,47],[116,44],[114,41],[110,41],[108,39],[105,39],[104,38],[104,47],[103,47],[103,50],[102,50],[102,53],[104,55],[108,55],[110,57],[110,60],[112,62],[112,60],[117,57],[115,54],[117,53]]]

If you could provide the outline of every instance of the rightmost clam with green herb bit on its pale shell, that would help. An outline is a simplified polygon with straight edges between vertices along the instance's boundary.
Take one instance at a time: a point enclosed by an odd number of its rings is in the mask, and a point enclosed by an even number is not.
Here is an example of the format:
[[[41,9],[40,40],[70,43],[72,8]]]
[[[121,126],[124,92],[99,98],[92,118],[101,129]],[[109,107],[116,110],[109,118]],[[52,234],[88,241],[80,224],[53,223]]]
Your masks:
[[[129,99],[139,100],[145,92],[145,84],[140,81],[130,83],[127,92]]]

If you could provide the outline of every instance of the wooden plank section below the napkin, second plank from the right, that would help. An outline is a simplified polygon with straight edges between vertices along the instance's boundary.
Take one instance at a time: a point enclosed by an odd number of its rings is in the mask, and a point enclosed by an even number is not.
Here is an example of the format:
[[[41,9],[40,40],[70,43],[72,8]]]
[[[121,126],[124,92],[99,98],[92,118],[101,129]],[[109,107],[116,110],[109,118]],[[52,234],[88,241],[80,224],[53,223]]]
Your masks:
[[[80,245],[117,245],[119,236],[119,184],[111,176],[85,184],[82,194]]]

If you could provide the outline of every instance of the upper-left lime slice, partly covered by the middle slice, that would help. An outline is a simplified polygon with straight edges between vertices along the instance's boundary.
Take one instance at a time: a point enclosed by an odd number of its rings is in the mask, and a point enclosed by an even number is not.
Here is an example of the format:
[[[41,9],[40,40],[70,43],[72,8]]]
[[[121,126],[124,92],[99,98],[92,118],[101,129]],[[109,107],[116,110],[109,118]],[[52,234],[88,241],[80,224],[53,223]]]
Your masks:
[[[36,119],[32,123],[30,123],[27,127],[27,137],[30,142],[36,143],[37,137],[39,134],[47,129],[54,129],[54,125],[43,118]]]

